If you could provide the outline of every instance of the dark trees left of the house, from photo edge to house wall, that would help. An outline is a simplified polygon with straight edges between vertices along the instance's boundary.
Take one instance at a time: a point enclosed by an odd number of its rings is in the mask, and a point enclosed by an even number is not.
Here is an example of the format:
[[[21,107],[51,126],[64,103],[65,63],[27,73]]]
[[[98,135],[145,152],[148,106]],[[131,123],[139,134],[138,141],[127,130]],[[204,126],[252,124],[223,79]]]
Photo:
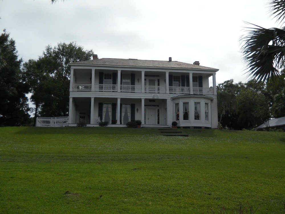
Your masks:
[[[4,30],[0,35],[0,126],[28,124],[30,111],[34,118],[68,116],[68,63],[90,60],[92,54],[76,42],[58,43],[46,46],[38,59],[23,63],[18,59],[15,41]],[[28,107],[28,93],[35,109]]]

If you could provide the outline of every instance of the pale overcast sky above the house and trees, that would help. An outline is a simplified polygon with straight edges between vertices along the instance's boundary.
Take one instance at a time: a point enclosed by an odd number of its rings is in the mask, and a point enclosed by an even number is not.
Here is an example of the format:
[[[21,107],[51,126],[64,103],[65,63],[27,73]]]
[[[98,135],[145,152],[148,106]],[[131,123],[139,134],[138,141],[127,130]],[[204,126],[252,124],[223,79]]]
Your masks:
[[[243,21],[278,27],[266,0],[2,0],[0,27],[24,61],[47,45],[76,41],[99,58],[137,58],[218,68],[217,84],[246,82],[239,38]]]

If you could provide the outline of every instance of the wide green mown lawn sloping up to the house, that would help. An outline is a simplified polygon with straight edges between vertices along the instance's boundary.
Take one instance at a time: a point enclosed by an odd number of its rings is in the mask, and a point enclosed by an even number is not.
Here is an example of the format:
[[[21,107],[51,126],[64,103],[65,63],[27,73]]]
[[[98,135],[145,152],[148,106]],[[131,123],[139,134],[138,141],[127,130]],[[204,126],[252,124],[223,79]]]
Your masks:
[[[0,128],[0,213],[285,213],[284,132],[183,132]]]

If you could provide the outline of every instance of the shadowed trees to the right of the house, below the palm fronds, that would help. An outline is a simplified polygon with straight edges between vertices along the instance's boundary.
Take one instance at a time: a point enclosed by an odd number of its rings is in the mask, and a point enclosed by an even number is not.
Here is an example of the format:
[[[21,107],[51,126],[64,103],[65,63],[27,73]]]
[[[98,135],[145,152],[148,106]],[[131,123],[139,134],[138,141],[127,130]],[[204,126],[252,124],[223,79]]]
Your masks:
[[[234,83],[227,80],[217,86],[218,119],[223,128],[256,128],[270,118],[285,116],[285,82],[267,83],[250,80]],[[281,78],[280,78],[281,80]]]

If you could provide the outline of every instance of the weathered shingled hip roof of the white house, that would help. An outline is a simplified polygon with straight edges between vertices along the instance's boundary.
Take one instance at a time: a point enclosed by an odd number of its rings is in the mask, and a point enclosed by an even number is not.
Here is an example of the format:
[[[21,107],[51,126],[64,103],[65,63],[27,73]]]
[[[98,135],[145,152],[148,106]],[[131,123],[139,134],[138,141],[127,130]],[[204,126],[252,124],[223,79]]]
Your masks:
[[[114,59],[114,58],[101,58],[81,62],[72,62],[72,64],[85,64],[85,65],[111,65],[111,66],[138,66],[138,67],[165,67],[165,68],[192,68],[192,69],[207,69],[215,70],[216,68],[209,68],[205,66],[189,64],[178,61],[157,61],[157,60],[139,60],[139,59]]]

